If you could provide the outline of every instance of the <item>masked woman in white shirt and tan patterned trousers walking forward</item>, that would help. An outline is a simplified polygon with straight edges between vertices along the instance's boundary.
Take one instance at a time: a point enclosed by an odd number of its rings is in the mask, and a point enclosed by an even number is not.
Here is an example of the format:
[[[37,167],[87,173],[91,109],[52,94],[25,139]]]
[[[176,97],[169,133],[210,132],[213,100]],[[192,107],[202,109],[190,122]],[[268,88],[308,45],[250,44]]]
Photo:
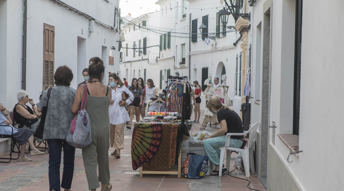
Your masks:
[[[112,98],[109,106],[110,117],[110,146],[115,148],[111,155],[120,158],[120,151],[124,148],[124,126],[130,120],[125,105],[131,104],[134,95],[124,85],[121,78],[116,73],[109,75],[109,85],[111,86]],[[129,94],[127,100],[122,100],[123,92]]]

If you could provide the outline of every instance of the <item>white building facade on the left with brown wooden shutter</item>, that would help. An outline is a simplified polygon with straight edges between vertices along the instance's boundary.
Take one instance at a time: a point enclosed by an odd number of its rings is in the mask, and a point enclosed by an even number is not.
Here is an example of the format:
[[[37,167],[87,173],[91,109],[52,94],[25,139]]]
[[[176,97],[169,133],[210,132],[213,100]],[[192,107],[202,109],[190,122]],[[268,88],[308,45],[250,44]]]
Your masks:
[[[72,69],[73,88],[91,57],[119,71],[118,0],[1,0],[0,24],[0,98],[9,110],[20,89],[38,102],[59,66]]]

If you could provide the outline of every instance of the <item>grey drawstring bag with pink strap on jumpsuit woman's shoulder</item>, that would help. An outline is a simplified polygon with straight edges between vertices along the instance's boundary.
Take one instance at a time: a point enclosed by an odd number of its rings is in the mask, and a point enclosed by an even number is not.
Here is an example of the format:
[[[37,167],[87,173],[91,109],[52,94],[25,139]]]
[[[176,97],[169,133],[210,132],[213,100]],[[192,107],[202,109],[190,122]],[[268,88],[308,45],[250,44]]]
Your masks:
[[[83,99],[78,114],[73,118],[71,127],[67,133],[69,145],[84,149],[92,142],[91,121],[85,109],[87,102],[87,84],[84,84]],[[85,103],[85,105],[84,105]]]

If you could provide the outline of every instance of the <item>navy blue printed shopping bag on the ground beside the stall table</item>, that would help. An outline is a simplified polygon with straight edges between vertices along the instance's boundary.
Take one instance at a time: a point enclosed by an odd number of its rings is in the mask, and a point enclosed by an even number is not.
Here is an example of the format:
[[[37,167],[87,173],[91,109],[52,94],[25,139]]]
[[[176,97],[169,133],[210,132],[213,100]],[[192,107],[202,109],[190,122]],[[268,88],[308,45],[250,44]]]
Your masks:
[[[204,174],[208,171],[208,156],[187,153],[182,170],[185,178],[204,178]]]

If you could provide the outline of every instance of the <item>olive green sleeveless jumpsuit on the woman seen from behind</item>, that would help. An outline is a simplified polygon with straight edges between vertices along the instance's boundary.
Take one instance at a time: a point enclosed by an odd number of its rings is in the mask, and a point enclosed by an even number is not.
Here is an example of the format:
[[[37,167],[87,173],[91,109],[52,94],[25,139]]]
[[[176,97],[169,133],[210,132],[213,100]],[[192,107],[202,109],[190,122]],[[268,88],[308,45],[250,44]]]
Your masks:
[[[87,89],[88,92],[88,89]],[[86,111],[91,121],[92,143],[83,149],[83,160],[89,190],[100,187],[99,182],[110,182],[109,170],[109,134],[110,119],[108,97],[109,87],[105,97],[87,95]],[[99,166],[99,177],[97,176]]]

